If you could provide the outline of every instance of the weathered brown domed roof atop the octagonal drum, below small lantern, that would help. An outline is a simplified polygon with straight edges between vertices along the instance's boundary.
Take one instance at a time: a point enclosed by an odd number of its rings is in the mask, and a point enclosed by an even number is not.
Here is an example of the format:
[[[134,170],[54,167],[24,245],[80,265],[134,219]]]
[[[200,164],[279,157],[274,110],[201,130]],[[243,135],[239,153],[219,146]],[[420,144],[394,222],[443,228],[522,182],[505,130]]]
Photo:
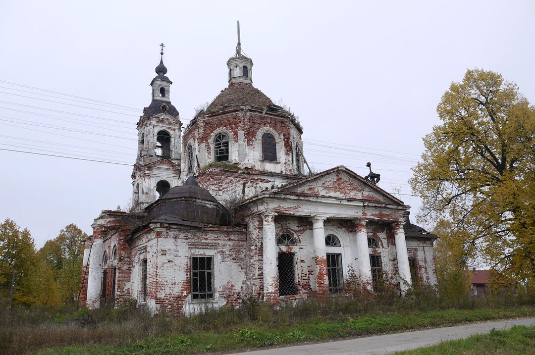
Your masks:
[[[243,105],[265,107],[273,105],[273,102],[262,91],[249,83],[231,83],[213,99],[206,112],[221,111]]]

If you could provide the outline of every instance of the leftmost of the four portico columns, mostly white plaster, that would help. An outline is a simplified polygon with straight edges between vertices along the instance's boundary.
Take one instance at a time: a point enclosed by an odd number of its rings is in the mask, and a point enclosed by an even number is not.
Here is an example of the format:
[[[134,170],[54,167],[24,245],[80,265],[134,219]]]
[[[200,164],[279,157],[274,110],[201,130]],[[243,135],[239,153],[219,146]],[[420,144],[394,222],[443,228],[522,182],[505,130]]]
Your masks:
[[[263,219],[263,250],[264,250],[264,300],[277,298],[277,238],[275,234],[275,216],[277,213],[266,213]]]

